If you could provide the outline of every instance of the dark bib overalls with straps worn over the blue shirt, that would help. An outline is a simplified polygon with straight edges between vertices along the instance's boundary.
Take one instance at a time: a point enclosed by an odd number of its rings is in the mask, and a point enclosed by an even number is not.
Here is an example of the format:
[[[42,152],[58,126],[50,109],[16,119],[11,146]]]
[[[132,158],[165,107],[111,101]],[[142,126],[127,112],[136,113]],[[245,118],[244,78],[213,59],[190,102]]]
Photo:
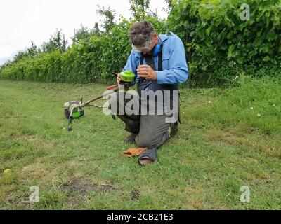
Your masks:
[[[159,59],[158,59],[158,69],[157,71],[162,71],[162,47],[159,52]],[[143,64],[145,59],[146,64],[148,64],[150,67],[152,67],[153,70],[155,69],[155,65],[152,59],[152,56],[149,55],[142,55],[141,56],[141,64]],[[171,130],[173,126],[177,126],[179,121],[179,106],[178,106],[178,85],[177,84],[157,84],[155,81],[151,80],[145,80],[143,78],[138,79],[137,81],[138,85],[138,97],[136,95],[131,95],[130,99],[124,99],[124,97],[119,97],[120,93],[117,93],[115,97],[112,97],[110,99],[110,107],[113,113],[115,113],[122,121],[125,123],[125,130],[131,133],[138,134],[136,137],[136,144],[140,148],[158,148],[164,142],[169,139],[171,136]],[[155,105],[155,115],[149,115],[149,114],[141,114],[140,109],[136,109],[136,112],[133,115],[119,115],[118,110],[123,109],[126,107],[126,104],[129,101],[136,100],[141,102],[141,105],[143,104],[143,97],[142,98],[142,91],[148,92],[156,92],[157,90],[164,92],[166,90],[167,92],[170,92],[170,97],[168,99],[168,102],[163,102],[162,105],[166,105],[166,103],[170,104],[170,108],[176,111],[176,120],[171,119],[172,123],[167,123],[166,118],[171,118],[171,113],[165,113],[163,111],[163,114],[160,113],[159,115],[159,108],[157,105]],[[173,97],[173,91],[176,91],[176,99]],[[166,92],[166,93],[167,93]],[[145,94],[144,94],[145,96]],[[173,106],[173,102],[177,102],[177,106],[175,108]],[[148,107],[149,104],[154,103],[151,101],[148,101]],[[155,101],[155,104],[157,104],[157,100]]]

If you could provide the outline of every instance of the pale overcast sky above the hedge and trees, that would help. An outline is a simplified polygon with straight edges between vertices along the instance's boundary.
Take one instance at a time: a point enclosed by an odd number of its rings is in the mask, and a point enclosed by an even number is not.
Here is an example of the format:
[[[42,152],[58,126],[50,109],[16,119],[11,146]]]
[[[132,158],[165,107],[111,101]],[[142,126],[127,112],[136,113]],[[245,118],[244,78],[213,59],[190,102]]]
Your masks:
[[[63,29],[67,41],[81,24],[92,28],[100,20],[97,5],[109,5],[119,15],[129,18],[129,0],[1,0],[0,1],[0,64],[11,59],[18,50],[41,45],[48,41],[55,29]],[[151,10],[160,18],[167,15],[164,0],[151,0]]]

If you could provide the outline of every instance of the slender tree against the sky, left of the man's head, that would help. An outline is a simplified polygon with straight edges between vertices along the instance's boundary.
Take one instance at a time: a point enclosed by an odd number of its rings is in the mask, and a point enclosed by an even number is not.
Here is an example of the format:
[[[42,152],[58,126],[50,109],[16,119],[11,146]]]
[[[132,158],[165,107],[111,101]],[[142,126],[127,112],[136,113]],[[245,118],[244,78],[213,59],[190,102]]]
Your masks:
[[[115,22],[114,22],[115,15],[116,15],[115,10],[112,10],[110,6],[107,6],[107,8],[98,6],[98,10],[96,10],[96,13],[100,14],[100,16],[105,18],[102,21],[103,28],[105,29],[105,33],[109,34],[112,28],[115,26]]]

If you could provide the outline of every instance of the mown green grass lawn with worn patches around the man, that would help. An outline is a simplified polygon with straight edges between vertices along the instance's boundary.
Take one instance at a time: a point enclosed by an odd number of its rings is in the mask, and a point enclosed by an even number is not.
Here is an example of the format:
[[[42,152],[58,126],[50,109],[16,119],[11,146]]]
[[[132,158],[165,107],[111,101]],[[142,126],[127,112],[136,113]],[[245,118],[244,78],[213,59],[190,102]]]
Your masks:
[[[64,102],[105,85],[0,80],[0,209],[281,209],[280,84],[242,77],[226,90],[182,89],[178,135],[140,167],[122,156],[133,146],[123,123],[101,109],[65,130]],[[30,186],[39,203],[27,202]]]

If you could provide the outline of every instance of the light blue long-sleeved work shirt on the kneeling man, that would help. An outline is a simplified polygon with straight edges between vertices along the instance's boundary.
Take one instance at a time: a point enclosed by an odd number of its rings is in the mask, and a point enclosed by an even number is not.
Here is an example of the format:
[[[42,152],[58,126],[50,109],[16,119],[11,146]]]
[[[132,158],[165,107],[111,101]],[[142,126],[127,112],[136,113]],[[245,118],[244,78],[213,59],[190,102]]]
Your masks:
[[[156,71],[157,84],[178,84],[188,80],[188,64],[185,59],[185,49],[181,39],[169,32],[169,35],[159,35],[159,44],[163,43],[162,64],[163,71]],[[155,68],[158,69],[158,56],[153,57]],[[145,59],[143,64],[147,64]],[[141,65],[141,53],[131,52],[123,71],[133,71],[138,81],[136,69]]]

